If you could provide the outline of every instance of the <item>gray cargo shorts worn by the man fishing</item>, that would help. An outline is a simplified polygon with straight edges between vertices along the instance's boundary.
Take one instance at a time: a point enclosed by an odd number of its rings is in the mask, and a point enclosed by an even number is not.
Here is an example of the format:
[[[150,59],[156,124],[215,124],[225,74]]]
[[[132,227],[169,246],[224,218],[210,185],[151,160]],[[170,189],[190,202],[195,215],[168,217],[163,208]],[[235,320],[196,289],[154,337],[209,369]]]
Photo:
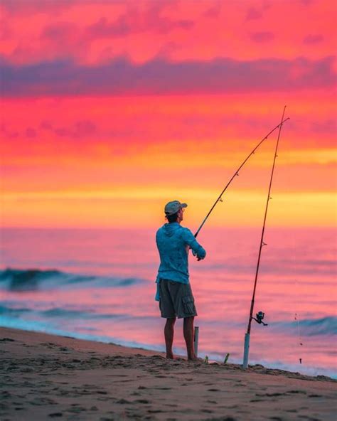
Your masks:
[[[161,317],[171,319],[197,316],[190,284],[161,279],[159,284]]]

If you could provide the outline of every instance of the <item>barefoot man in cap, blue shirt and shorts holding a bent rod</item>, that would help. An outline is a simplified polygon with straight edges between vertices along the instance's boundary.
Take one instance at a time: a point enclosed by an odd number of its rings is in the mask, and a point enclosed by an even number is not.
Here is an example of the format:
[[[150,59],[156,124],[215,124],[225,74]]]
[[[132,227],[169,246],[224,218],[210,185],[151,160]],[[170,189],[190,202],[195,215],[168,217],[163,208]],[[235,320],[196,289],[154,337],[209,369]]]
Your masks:
[[[166,319],[164,336],[166,358],[173,358],[173,335],[176,318],[183,318],[183,337],[186,342],[188,360],[196,361],[193,341],[193,321],[197,316],[188,275],[188,251],[191,248],[198,260],[205,258],[206,252],[198,244],[188,228],[181,226],[186,203],[172,201],[165,206],[168,223],[156,233],[156,245],[160,255],[156,300],[159,301],[161,317]]]

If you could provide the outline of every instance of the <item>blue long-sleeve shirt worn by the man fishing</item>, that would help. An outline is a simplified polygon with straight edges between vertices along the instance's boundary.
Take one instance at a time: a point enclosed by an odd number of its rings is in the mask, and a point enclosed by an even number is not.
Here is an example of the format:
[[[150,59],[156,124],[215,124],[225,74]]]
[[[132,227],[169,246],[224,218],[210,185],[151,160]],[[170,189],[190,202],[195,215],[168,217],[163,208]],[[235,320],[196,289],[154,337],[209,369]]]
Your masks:
[[[179,223],[166,223],[159,228],[156,233],[156,245],[160,256],[157,284],[161,278],[188,284],[188,250],[191,248],[200,259],[204,259],[206,255],[205,249],[198,243],[191,230]],[[156,299],[159,299],[158,288]]]

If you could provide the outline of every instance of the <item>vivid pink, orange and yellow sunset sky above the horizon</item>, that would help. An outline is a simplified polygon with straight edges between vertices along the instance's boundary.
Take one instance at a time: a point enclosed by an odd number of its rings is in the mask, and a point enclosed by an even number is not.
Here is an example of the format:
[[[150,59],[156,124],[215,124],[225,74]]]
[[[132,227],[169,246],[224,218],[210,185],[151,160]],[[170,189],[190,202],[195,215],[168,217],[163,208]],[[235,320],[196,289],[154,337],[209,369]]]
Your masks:
[[[2,0],[1,225],[195,228],[286,117],[272,226],[336,224],[336,2]],[[277,131],[210,226],[259,226]]]

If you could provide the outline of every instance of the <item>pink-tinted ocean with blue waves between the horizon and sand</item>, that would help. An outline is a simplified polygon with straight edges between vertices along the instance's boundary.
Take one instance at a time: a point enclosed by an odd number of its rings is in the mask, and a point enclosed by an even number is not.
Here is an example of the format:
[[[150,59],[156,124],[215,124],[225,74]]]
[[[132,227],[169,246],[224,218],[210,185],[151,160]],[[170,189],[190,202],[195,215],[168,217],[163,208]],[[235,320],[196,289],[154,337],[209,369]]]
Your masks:
[[[154,229],[3,228],[0,326],[164,351]],[[261,230],[203,228],[190,255],[199,356],[242,363]],[[267,228],[250,364],[337,378],[336,230]],[[174,350],[185,355],[182,321]]]

